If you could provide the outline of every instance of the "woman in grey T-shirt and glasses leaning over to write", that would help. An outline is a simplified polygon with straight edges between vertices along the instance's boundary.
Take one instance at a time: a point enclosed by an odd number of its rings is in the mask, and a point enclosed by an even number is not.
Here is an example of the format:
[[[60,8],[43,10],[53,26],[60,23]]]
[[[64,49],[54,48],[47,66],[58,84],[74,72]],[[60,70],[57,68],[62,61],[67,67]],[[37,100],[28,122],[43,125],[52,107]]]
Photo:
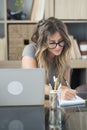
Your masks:
[[[65,24],[57,18],[50,17],[38,22],[32,35],[34,43],[23,50],[23,68],[45,68],[46,86],[45,93],[49,93],[49,83],[53,85],[53,76],[63,84],[69,62],[71,42]],[[71,99],[76,95],[76,90],[62,86],[62,98]]]

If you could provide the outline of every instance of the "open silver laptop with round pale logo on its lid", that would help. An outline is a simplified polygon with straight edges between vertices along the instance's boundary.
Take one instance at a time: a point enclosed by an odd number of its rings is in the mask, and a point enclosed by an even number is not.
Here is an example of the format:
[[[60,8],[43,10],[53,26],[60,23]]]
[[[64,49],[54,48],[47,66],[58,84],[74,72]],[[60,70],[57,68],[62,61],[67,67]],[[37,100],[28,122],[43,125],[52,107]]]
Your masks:
[[[44,69],[0,69],[0,106],[44,105],[44,85]]]

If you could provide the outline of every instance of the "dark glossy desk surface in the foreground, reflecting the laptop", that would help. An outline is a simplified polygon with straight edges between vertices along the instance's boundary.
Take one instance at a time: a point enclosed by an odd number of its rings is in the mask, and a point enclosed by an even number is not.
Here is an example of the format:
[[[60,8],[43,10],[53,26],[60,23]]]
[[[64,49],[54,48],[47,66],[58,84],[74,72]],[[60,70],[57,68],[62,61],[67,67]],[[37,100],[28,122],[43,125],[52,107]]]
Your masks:
[[[87,97],[87,93],[82,96]],[[48,100],[45,101],[44,106],[0,107],[0,130],[49,130]],[[62,130],[87,130],[86,105],[84,107],[61,108],[61,110]]]

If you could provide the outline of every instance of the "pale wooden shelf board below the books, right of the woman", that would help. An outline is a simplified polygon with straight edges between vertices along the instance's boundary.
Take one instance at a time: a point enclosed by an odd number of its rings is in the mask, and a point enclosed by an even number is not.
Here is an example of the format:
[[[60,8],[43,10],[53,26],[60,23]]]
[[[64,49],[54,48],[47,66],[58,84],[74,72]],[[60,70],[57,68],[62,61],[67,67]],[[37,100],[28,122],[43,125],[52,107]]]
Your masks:
[[[74,69],[87,68],[87,59],[71,60],[70,67]]]

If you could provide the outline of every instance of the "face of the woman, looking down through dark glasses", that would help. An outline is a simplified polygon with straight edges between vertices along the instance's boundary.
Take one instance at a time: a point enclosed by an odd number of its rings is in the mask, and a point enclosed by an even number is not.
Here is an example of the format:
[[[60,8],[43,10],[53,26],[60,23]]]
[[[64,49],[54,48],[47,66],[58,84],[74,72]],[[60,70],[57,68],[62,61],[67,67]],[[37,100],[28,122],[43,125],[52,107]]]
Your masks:
[[[53,58],[55,56],[59,56],[63,50],[64,45],[65,42],[58,32],[49,37],[48,42],[49,57]]]

